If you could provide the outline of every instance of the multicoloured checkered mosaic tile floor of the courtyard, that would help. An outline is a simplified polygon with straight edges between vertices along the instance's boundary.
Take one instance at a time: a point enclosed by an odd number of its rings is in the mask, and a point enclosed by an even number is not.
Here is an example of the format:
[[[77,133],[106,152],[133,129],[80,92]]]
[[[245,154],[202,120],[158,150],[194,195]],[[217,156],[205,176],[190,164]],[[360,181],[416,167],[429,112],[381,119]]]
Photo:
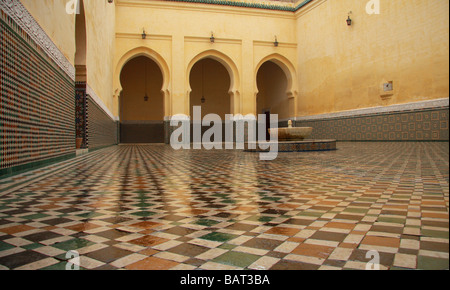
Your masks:
[[[448,269],[448,143],[338,148],[115,146],[0,180],[0,269]]]

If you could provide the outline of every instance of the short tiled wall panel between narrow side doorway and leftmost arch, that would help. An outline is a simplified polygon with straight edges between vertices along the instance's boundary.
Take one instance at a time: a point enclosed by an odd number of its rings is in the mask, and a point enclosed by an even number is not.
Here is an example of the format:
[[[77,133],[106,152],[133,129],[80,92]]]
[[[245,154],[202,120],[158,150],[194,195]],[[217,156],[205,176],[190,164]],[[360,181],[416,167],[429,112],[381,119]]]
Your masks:
[[[118,143],[118,122],[112,120],[87,95],[87,146],[95,149]]]

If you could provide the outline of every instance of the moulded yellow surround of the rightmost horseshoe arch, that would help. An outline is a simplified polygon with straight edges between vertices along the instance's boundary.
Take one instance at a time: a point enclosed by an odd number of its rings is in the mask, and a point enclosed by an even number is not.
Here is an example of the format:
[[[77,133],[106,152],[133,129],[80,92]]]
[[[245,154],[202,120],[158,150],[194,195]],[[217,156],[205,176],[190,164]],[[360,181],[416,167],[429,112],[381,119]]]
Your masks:
[[[296,72],[296,69],[295,69],[294,65],[292,64],[292,62],[289,61],[286,57],[284,57],[278,53],[274,53],[274,54],[264,57],[263,59],[261,59],[258,62],[258,65],[255,68],[255,73],[254,73],[254,76],[255,76],[254,110],[255,110],[255,112],[257,111],[256,110],[257,96],[259,93],[258,79],[257,79],[258,72],[259,72],[259,69],[261,68],[261,66],[268,61],[271,61],[271,62],[277,64],[283,70],[284,74],[286,75],[286,79],[287,79],[286,95],[289,98],[289,117],[295,118],[297,116],[297,101],[298,101],[297,100],[298,99],[297,72]]]

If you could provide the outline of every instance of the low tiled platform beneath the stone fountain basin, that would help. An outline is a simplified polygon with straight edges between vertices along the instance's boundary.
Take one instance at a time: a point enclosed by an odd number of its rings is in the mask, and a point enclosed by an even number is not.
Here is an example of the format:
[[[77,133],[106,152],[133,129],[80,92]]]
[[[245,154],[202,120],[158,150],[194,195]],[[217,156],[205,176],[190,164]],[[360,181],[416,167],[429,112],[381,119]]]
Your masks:
[[[278,152],[311,152],[311,151],[334,151],[337,150],[336,140],[303,140],[303,141],[279,141]],[[267,143],[270,145],[270,143]],[[251,149],[250,145],[256,145]],[[255,147],[255,146],[253,146]],[[270,147],[269,147],[270,148]],[[261,149],[258,142],[245,143],[245,152],[267,152],[269,149]]]

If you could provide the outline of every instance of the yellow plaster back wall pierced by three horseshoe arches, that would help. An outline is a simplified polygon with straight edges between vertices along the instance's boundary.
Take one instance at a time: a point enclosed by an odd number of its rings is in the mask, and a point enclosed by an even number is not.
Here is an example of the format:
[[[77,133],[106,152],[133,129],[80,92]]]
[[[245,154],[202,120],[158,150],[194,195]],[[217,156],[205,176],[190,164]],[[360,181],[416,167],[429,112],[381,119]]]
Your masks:
[[[256,113],[256,66],[268,55],[280,53],[297,62],[296,20],[292,12],[170,1],[116,1],[114,90],[121,90],[123,58],[136,48],[148,49],[168,66],[170,101],[165,116],[190,114],[189,65],[211,52],[229,71],[236,68],[232,113]],[[289,4],[289,3],[287,3]],[[291,5],[291,4],[289,4]],[[147,39],[143,40],[143,29]],[[209,38],[214,33],[216,42]],[[275,35],[280,46],[275,48]],[[228,63],[227,63],[228,62]]]

